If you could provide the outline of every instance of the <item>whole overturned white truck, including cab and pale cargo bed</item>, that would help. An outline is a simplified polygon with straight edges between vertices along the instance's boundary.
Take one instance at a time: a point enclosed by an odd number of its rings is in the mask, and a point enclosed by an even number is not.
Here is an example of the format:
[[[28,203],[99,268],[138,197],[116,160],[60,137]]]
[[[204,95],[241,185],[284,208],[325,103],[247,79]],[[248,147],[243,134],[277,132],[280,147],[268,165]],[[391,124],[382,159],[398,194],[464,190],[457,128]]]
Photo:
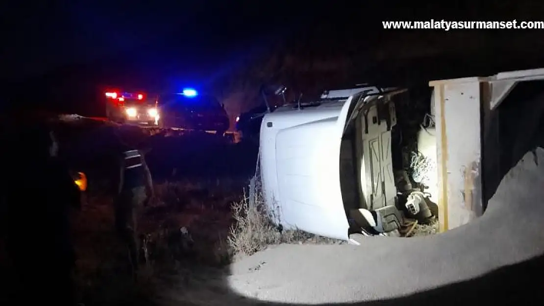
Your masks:
[[[518,82],[543,78],[539,69],[430,82],[425,118],[436,126],[421,124],[417,154],[396,170],[392,155],[403,152],[392,139],[397,115],[404,114],[395,111],[395,97],[404,90],[367,86],[287,104],[265,115],[261,126],[265,202],[284,228],[342,240],[394,232],[418,215],[437,217],[440,232],[465,224],[483,213],[490,197],[483,178],[502,178],[489,166],[498,163],[492,152],[500,141],[493,136],[484,146],[484,134],[497,133],[497,105]],[[407,178],[419,155],[426,173]],[[484,158],[488,166],[481,166]]]

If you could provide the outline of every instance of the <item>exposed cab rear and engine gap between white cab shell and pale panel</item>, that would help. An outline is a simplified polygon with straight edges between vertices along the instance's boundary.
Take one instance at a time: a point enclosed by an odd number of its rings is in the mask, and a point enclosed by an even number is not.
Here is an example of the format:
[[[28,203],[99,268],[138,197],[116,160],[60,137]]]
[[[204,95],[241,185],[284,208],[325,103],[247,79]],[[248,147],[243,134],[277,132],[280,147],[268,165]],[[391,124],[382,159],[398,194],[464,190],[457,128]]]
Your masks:
[[[428,86],[354,96],[339,158],[351,233],[409,235],[436,216],[433,133]]]

